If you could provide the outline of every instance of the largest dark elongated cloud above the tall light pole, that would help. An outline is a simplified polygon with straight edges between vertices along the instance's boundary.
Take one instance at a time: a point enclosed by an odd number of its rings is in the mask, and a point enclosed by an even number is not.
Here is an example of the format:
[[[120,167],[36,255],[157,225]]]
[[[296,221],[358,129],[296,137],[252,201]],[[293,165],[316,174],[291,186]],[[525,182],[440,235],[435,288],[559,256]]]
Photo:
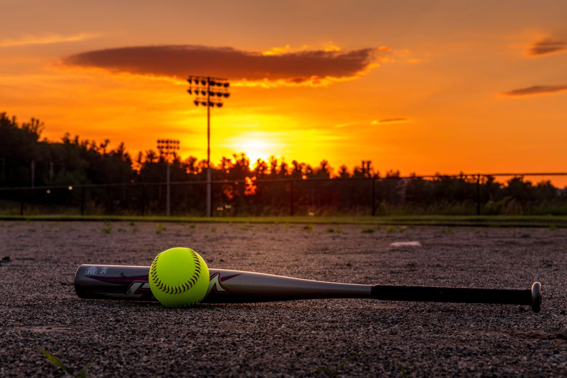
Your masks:
[[[65,58],[64,64],[184,80],[190,74],[214,74],[236,82],[278,85],[321,85],[365,74],[385,48],[349,52],[272,49],[269,54],[230,47],[159,45],[88,51]]]

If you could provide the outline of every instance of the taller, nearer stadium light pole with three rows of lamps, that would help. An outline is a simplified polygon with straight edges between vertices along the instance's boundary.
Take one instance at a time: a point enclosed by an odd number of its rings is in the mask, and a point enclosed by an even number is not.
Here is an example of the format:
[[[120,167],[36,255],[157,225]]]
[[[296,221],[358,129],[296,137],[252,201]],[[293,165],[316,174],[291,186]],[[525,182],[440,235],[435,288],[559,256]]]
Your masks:
[[[207,216],[211,216],[211,108],[222,108],[224,99],[230,96],[228,79],[190,76],[187,79],[189,95],[193,95],[196,107],[207,107]]]

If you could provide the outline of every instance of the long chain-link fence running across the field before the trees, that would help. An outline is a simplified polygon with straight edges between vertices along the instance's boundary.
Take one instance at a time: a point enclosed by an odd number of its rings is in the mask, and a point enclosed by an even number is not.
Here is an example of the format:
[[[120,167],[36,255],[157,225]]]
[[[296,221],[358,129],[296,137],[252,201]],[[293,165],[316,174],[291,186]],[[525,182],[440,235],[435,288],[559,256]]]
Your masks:
[[[212,181],[213,216],[567,214],[567,173]],[[171,215],[204,216],[206,181],[171,182]],[[0,188],[0,212],[165,215],[166,182]]]

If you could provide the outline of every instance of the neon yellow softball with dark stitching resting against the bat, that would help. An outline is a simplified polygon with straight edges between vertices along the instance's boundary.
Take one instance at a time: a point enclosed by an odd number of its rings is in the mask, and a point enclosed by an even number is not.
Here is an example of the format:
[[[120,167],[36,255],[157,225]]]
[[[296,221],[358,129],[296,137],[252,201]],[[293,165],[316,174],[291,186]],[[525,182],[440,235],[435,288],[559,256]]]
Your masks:
[[[209,288],[209,268],[193,249],[164,250],[150,266],[150,289],[167,307],[188,307],[199,303]]]

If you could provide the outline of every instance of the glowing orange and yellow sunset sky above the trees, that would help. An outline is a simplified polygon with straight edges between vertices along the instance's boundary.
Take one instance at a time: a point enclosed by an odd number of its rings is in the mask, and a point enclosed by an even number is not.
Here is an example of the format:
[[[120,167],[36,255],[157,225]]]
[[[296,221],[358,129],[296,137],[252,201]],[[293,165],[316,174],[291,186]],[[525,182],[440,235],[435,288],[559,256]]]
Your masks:
[[[565,1],[0,0],[0,112],[57,141],[380,172],[567,171]]]

